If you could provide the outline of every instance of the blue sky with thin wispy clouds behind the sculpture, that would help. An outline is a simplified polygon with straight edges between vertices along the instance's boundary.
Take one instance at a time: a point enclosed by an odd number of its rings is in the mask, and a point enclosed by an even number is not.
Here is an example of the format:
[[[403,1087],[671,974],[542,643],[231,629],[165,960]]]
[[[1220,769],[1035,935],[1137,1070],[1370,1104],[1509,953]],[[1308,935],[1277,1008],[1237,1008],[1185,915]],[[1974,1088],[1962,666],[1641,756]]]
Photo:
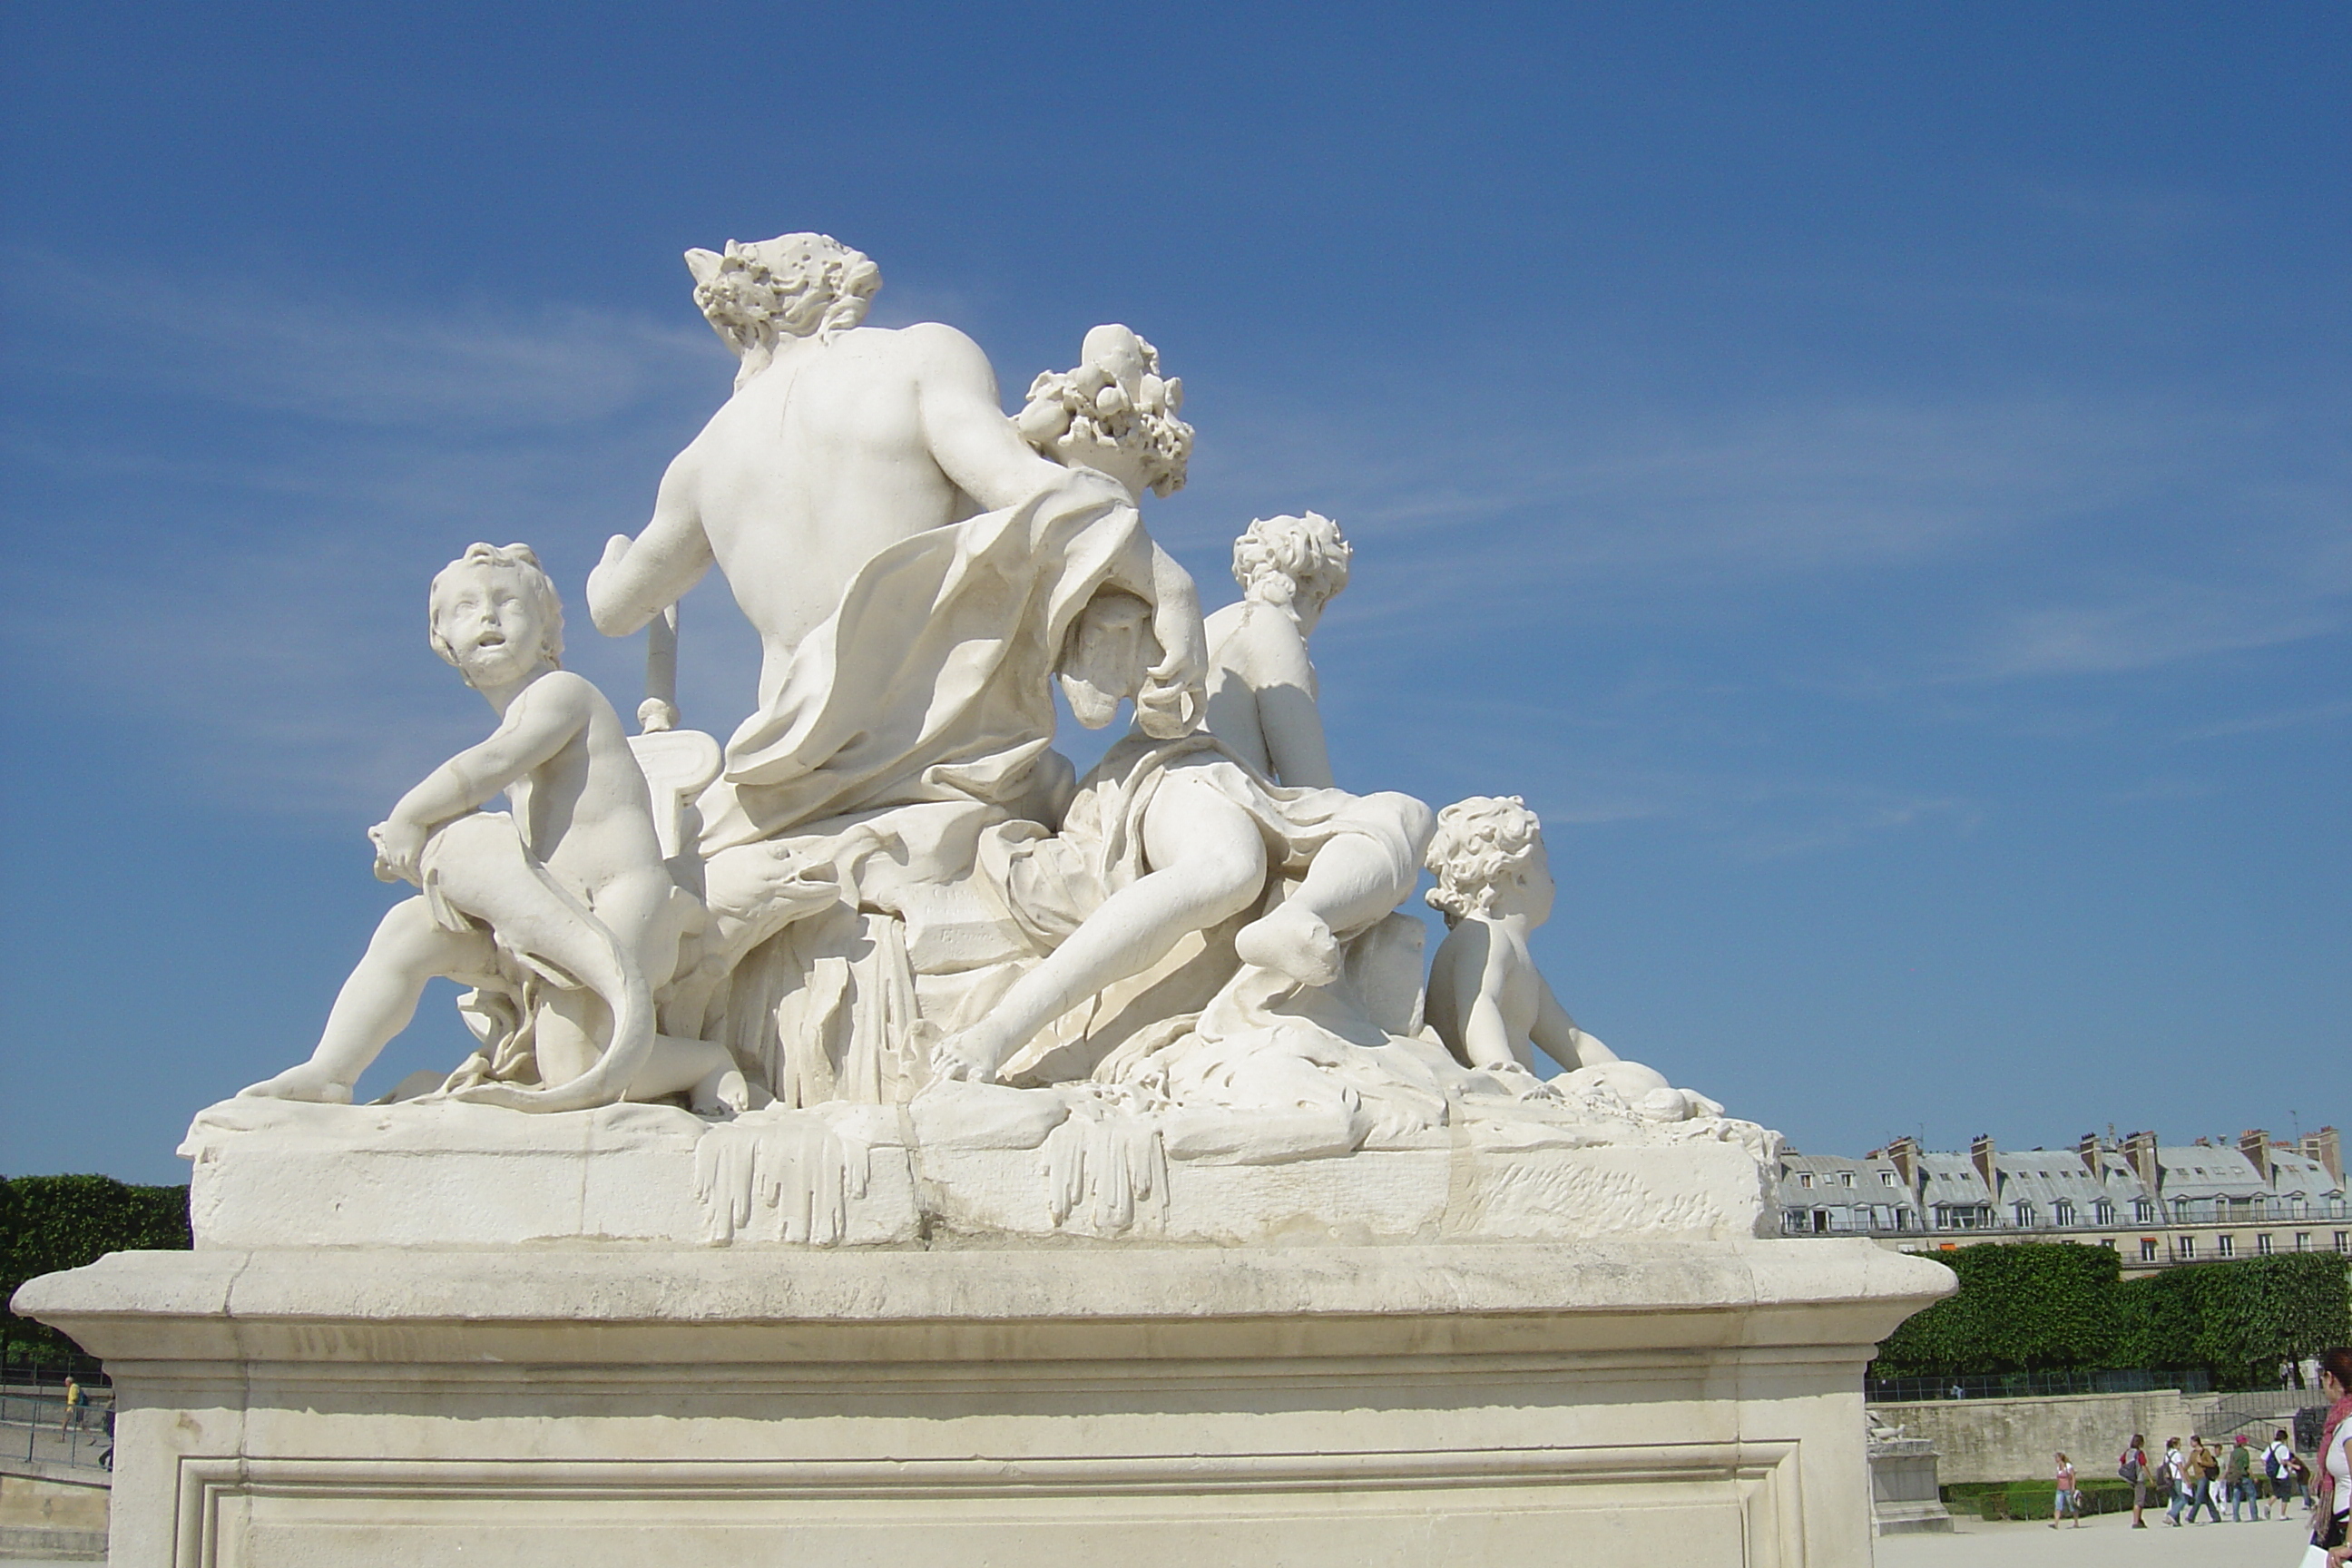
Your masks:
[[[487,726],[426,581],[524,538],[576,607],[727,395],[680,252],[800,228],[1007,397],[1157,341],[1211,604],[1341,520],[1341,780],[1524,795],[1623,1053],[1818,1152],[2347,1112],[2340,5],[0,28],[0,1171],[176,1180],[308,1051],[365,827]],[[724,733],[717,578],[684,663]],[[376,1077],[461,1048],[437,994]]]

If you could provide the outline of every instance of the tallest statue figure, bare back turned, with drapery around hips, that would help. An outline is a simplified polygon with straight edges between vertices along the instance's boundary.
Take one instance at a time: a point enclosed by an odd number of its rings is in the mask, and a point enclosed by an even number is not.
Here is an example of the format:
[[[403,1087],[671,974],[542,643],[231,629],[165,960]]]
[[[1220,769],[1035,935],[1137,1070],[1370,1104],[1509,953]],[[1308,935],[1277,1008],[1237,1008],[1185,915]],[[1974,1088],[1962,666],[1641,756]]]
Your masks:
[[[1145,708],[1188,724],[1207,672],[1190,576],[1120,484],[1021,440],[971,339],[861,327],[882,273],[828,235],[729,240],[687,268],[743,364],[644,531],[607,543],[588,614],[628,635],[717,564],[760,632],[760,712],[706,802],[706,853],[922,799],[1035,809],[1061,783],[1037,773],[1051,658],[1101,585],[1152,604]],[[891,555],[981,515],[1000,522]]]

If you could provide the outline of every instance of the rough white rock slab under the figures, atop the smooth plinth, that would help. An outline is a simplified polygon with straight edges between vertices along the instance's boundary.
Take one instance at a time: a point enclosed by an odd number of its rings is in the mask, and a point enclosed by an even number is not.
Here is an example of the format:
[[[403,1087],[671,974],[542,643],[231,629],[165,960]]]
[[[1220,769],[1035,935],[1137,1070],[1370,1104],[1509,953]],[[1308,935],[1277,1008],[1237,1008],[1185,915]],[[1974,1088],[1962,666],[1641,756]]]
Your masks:
[[[703,1121],[661,1105],[515,1117],[226,1100],[198,1117],[181,1154],[195,1161],[198,1246],[1729,1241],[1778,1229],[1769,1168],[1715,1138],[1578,1143],[1592,1133],[1465,1117],[1352,1154],[1185,1159],[1155,1121],[997,1093],[995,1117],[938,1121],[924,1103]]]

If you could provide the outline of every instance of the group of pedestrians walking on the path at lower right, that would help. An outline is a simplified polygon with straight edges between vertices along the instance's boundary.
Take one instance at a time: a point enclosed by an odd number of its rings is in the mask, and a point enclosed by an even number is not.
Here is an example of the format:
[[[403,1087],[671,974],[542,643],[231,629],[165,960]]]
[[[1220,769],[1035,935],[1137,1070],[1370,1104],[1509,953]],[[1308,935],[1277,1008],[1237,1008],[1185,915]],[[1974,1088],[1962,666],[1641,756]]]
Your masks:
[[[2305,1568],[2345,1568],[2352,1563],[2352,1544],[2345,1544],[2345,1523],[2352,1519],[2352,1349],[2331,1349],[2319,1359],[2319,1392],[2328,1399],[2326,1427],[2319,1439],[2317,1474],[2296,1453],[2286,1429],[2272,1432],[2265,1448],[2239,1434],[2234,1441],[2206,1443],[2201,1434],[2190,1434],[2187,1448],[2178,1436],[2164,1439],[2164,1453],[2147,1455],[2147,1439],[2138,1432],[2117,1460],[2117,1472],[2131,1481],[2131,1528],[2145,1530],[2140,1516],[2150,1497],[2161,1490],[2171,1497],[2164,1523],[2176,1530],[2197,1523],[2204,1509],[2211,1523],[2223,1523],[2220,1505],[2230,1505],[2232,1523],[2260,1519],[2288,1519],[2288,1505],[2303,1502],[2312,1521],[2312,1549]],[[2317,1486],[2314,1486],[2317,1479]],[[2058,1500],[2051,1507],[2051,1528],[2067,1516],[2082,1523],[2082,1490],[2074,1483],[2074,1465],[2058,1455]]]

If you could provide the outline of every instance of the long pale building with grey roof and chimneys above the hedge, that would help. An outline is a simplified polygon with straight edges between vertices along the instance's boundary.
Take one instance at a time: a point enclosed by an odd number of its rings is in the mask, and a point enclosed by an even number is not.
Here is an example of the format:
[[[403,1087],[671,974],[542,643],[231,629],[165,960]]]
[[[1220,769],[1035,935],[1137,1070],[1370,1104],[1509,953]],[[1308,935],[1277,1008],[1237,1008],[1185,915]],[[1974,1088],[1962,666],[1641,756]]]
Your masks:
[[[1905,1253],[1973,1241],[2089,1241],[2112,1246],[2124,1274],[2176,1262],[2352,1253],[2343,1143],[2333,1126],[2300,1138],[2260,1128],[2237,1143],[2166,1145],[2154,1133],[2072,1150],[1966,1154],[1896,1138],[1863,1159],[1780,1154],[1788,1234],[1867,1234]]]

